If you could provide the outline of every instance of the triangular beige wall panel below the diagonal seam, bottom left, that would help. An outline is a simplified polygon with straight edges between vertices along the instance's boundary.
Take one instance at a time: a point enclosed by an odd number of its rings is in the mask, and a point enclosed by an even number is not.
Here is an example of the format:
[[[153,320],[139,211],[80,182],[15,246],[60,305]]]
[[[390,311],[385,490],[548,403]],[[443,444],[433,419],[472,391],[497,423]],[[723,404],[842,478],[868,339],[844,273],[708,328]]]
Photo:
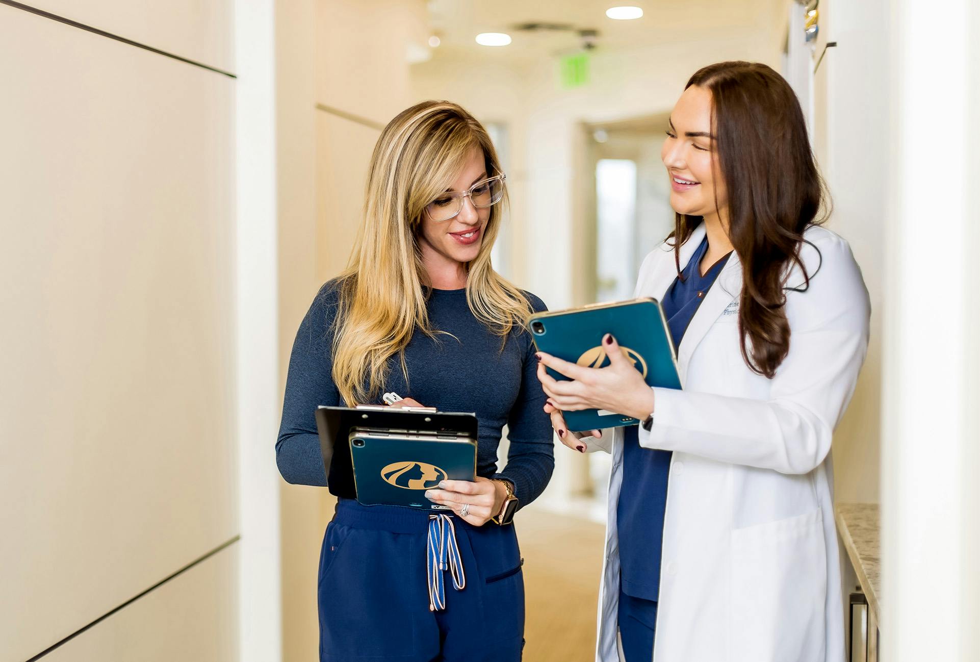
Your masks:
[[[237,545],[45,655],[44,662],[234,662]]]

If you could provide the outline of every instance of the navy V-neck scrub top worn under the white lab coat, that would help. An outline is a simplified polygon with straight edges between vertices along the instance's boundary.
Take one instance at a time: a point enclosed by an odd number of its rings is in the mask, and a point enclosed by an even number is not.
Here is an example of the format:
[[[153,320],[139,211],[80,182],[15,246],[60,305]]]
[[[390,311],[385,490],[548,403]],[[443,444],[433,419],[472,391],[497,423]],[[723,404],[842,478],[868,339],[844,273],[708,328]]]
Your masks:
[[[726,255],[702,276],[699,265],[707,251],[706,236],[661,301],[675,349],[728,261]],[[620,587],[626,595],[656,601],[661,584],[663,509],[667,500],[670,451],[641,447],[637,431],[638,426],[625,431],[622,489],[616,505]]]

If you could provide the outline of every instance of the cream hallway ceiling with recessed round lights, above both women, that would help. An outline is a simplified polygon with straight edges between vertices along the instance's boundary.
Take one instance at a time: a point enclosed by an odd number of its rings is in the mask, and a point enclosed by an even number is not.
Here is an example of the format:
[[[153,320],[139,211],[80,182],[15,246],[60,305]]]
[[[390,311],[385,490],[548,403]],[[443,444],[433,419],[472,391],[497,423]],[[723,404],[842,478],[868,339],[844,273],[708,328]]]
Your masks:
[[[606,10],[616,5],[643,8],[635,21],[613,21]],[[599,31],[596,50],[649,46],[657,41],[704,40],[706,35],[742,30],[760,20],[772,0],[428,0],[433,31],[442,44],[434,58],[462,54],[525,60],[572,53],[582,48],[580,29]],[[568,25],[569,30],[524,31],[520,24]],[[507,32],[510,46],[487,47],[475,42],[479,32]],[[709,36],[710,38],[710,36]]]

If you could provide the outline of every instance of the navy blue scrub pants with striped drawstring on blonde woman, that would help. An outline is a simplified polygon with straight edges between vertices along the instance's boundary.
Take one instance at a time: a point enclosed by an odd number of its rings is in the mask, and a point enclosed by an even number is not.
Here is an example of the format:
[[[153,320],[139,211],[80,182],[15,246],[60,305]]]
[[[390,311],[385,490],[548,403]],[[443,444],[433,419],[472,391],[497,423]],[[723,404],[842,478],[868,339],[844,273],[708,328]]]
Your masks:
[[[340,499],[319,558],[321,662],[520,660],[524,580],[514,526],[453,516],[466,587],[445,571],[429,609],[428,513]]]

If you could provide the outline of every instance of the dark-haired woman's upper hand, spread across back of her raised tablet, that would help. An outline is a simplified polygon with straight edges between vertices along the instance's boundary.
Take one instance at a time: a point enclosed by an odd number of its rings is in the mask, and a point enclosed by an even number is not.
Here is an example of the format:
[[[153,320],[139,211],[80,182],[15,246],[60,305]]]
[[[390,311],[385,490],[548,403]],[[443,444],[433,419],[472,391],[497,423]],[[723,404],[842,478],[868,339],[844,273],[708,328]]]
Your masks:
[[[603,349],[610,359],[606,368],[585,368],[538,352],[538,380],[548,402],[566,412],[605,409],[642,421],[654,411],[654,390],[626,358],[612,333],[603,336]],[[545,371],[546,366],[572,381],[554,379]]]

